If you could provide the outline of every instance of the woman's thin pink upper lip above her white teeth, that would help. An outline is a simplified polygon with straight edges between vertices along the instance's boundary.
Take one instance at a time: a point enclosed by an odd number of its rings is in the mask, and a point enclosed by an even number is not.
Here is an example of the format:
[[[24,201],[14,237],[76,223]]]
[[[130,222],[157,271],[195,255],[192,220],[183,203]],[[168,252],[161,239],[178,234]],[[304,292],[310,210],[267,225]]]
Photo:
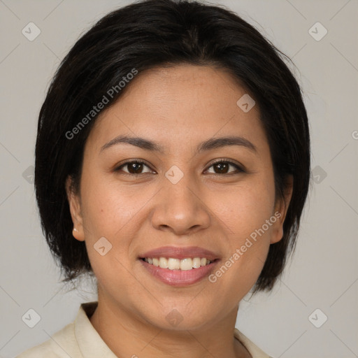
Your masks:
[[[194,257],[206,257],[209,260],[218,259],[218,255],[215,252],[199,248],[199,246],[162,246],[162,248],[156,248],[147,252],[144,252],[143,255],[139,256],[141,259],[145,257],[173,257],[174,259],[186,259]]]

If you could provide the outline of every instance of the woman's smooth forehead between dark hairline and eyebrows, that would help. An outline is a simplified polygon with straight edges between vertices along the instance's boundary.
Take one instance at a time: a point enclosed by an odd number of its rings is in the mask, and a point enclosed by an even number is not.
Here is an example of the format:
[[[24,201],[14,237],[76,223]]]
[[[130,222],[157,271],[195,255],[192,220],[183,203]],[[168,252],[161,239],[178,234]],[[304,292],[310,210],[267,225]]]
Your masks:
[[[247,92],[220,69],[193,65],[151,69],[127,86],[120,99],[99,115],[87,139],[97,151],[118,134],[152,138],[168,150],[213,136],[266,141],[258,106],[243,111],[238,101],[246,99]]]

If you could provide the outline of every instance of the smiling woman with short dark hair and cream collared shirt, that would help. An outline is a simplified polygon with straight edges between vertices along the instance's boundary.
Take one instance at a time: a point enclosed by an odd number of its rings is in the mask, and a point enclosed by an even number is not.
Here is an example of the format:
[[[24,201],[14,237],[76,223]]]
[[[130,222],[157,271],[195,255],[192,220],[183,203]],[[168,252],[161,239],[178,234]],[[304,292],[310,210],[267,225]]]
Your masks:
[[[62,61],[38,120],[41,224],[98,301],[19,357],[269,357],[235,328],[294,249],[310,138],[278,50],[229,10],[115,10]]]

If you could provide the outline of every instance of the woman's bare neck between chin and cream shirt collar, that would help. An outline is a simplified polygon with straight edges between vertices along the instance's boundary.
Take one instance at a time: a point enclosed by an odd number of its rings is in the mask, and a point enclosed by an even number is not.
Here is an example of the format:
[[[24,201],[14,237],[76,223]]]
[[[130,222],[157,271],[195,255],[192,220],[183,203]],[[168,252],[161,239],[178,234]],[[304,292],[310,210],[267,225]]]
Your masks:
[[[201,329],[161,329],[111,301],[99,303],[90,322],[117,357],[252,358],[234,338],[238,306],[212,326]]]

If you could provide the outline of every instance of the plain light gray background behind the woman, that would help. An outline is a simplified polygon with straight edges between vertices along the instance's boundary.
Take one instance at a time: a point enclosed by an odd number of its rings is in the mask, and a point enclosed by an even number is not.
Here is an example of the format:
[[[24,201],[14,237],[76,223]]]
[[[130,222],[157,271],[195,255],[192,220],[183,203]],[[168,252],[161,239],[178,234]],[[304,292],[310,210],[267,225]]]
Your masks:
[[[47,340],[73,321],[81,302],[96,299],[90,282],[69,293],[58,283],[31,166],[38,111],[60,59],[96,20],[130,2],[0,0],[0,357]],[[314,180],[294,258],[271,294],[242,301],[236,327],[275,358],[358,357],[358,1],[217,3],[292,57],[313,150]],[[22,34],[29,22],[41,29],[34,41]],[[320,41],[308,31],[316,22],[328,31]],[[322,36],[316,27],[314,36]],[[41,316],[32,329],[22,321],[30,308]]]

